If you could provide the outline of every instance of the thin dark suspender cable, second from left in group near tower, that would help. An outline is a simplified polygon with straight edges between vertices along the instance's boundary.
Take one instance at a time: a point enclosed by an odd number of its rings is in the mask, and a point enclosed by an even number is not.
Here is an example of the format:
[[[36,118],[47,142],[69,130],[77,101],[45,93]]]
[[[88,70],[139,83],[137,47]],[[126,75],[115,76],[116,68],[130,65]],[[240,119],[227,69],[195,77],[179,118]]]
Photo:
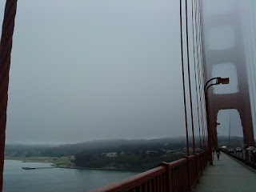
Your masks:
[[[187,56],[187,69],[189,78],[189,89],[190,89],[190,115],[191,115],[191,128],[193,136],[193,151],[194,149],[194,117],[193,117],[193,104],[192,104],[192,94],[191,94],[191,79],[190,79],[190,50],[189,50],[189,31],[188,31],[188,19],[187,19],[187,0],[186,0],[186,56]]]

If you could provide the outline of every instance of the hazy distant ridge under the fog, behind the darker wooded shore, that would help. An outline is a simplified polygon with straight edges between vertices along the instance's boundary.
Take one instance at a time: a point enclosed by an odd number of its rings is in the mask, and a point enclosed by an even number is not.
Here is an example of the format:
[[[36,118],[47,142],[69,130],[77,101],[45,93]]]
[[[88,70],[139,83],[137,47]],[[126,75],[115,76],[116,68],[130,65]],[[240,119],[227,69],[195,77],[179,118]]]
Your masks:
[[[190,146],[192,139],[190,138]],[[227,145],[228,137],[219,137],[219,142],[222,145]],[[242,138],[230,137],[230,142],[242,142]],[[9,156],[38,156],[38,157],[62,157],[75,155],[84,150],[112,150],[118,148],[134,148],[146,150],[158,148],[167,144],[171,149],[183,148],[186,146],[186,138],[155,138],[155,139],[109,139],[96,140],[90,142],[79,142],[76,144],[66,144],[60,146],[51,145],[22,145],[22,144],[6,144],[5,154]],[[199,139],[195,139],[196,147],[199,147]],[[10,155],[11,154],[11,155]]]

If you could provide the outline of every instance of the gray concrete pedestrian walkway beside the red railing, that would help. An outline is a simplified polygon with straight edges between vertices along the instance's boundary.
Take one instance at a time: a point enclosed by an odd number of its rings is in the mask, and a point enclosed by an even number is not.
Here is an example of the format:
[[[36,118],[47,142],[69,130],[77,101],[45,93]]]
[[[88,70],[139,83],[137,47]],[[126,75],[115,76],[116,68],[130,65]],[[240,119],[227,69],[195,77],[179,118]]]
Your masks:
[[[206,166],[195,192],[256,192],[256,171],[222,153],[214,166]]]

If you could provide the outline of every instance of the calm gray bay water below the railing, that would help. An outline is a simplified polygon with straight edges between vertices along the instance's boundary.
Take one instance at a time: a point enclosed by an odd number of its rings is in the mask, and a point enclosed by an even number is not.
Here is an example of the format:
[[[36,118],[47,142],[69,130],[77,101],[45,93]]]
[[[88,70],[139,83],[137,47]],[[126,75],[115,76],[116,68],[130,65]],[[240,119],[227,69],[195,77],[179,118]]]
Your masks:
[[[24,166],[50,167],[50,163],[5,160],[3,192],[84,192],[138,174],[127,171],[63,168],[22,170]]]

